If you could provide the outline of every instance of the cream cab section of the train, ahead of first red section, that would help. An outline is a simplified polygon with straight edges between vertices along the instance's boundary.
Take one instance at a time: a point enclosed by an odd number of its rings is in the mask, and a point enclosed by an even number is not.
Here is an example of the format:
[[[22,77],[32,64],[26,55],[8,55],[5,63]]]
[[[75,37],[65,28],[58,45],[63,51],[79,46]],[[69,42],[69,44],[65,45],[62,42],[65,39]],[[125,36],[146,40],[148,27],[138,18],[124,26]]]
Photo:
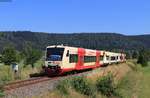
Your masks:
[[[57,75],[74,70],[76,65],[77,48],[63,45],[53,45],[46,48],[45,70],[47,75]],[[70,57],[74,58],[70,60]],[[70,63],[71,62],[71,63]]]

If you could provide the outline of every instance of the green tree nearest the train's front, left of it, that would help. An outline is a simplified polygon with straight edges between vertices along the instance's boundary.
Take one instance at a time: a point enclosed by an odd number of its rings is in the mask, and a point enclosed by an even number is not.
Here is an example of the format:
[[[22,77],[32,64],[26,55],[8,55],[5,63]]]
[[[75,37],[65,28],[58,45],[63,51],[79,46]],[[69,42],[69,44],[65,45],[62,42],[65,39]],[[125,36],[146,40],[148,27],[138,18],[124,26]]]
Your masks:
[[[25,59],[25,64],[32,65],[32,68],[35,66],[37,60],[42,56],[42,52],[37,49],[33,49],[32,45],[27,43],[24,50],[22,51],[23,58]]]

